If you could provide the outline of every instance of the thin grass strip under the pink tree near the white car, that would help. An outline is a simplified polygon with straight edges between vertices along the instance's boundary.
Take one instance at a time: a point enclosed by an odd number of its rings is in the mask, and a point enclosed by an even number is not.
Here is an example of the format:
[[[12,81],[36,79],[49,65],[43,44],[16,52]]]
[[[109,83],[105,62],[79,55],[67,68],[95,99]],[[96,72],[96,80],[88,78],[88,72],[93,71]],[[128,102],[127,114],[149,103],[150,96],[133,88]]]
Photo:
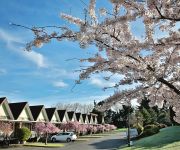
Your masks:
[[[60,148],[60,147],[64,147],[64,144],[61,144],[61,143],[47,143],[47,145],[45,145],[44,143],[36,142],[36,143],[26,143],[26,144],[24,144],[24,146]]]

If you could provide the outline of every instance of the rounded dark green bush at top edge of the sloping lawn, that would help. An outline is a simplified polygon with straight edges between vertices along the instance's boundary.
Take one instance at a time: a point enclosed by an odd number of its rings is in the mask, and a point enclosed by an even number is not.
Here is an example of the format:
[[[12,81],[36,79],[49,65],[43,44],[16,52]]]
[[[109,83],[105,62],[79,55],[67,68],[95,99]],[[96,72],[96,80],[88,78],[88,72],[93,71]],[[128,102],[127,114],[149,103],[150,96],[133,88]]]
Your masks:
[[[147,125],[144,127],[142,137],[151,136],[159,132],[159,127],[157,125]]]

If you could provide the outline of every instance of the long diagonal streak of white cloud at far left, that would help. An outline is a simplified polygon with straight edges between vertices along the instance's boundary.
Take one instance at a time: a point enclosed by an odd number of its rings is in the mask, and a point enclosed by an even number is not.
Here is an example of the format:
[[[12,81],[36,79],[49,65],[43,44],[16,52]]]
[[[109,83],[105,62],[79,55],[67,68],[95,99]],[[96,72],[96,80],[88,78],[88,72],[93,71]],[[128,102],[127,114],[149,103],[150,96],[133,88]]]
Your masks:
[[[17,52],[24,58],[36,64],[38,67],[47,67],[46,60],[42,54],[35,52],[33,50],[31,52],[27,52],[23,50],[25,44],[22,41],[22,39],[7,33],[1,28],[0,28],[0,39],[6,43],[8,49]]]

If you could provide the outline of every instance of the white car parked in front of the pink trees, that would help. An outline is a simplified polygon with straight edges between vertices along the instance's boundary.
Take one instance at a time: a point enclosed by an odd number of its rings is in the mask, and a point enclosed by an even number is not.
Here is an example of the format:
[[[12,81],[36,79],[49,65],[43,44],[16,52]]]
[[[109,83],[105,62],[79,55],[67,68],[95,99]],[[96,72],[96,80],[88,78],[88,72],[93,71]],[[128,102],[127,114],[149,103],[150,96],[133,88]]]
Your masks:
[[[74,134],[74,132],[62,132],[62,133],[53,135],[51,137],[52,142],[56,142],[56,141],[71,142],[71,141],[75,141],[76,139],[77,139],[77,136]]]

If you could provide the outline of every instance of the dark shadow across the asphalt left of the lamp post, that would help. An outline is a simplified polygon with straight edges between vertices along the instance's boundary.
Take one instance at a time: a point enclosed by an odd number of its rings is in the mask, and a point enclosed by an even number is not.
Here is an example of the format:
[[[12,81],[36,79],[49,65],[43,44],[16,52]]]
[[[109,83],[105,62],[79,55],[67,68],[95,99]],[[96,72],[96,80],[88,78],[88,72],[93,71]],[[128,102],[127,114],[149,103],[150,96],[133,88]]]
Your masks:
[[[108,150],[114,150],[119,148],[122,145],[125,145],[127,142],[126,139],[110,139],[110,140],[104,140],[101,142],[96,142],[93,144],[90,144],[95,147],[95,149],[108,149]]]

